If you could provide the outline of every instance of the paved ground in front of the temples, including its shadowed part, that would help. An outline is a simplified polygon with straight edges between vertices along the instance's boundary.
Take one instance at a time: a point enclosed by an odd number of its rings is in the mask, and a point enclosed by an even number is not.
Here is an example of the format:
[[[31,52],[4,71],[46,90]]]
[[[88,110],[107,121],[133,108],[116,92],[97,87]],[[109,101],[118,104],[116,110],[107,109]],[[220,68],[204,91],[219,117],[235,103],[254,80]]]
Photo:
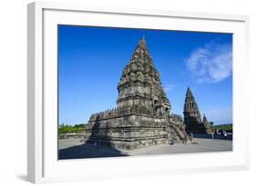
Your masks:
[[[232,151],[232,141],[195,138],[196,144],[175,143],[149,146],[132,151],[118,151],[105,147],[95,147],[83,144],[80,139],[69,138],[58,141],[59,159],[77,158],[99,158],[117,157],[130,155],[153,155],[153,154],[173,154],[173,153],[192,153],[192,152],[228,152]]]

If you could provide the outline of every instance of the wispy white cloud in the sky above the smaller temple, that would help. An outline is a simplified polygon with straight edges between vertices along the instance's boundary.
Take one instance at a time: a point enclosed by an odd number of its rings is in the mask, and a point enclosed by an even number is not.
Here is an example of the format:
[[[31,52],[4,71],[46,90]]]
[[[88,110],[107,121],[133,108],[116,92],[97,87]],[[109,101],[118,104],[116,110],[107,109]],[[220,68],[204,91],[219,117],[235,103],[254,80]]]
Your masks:
[[[217,83],[232,73],[231,44],[211,42],[193,51],[185,60],[197,83]]]

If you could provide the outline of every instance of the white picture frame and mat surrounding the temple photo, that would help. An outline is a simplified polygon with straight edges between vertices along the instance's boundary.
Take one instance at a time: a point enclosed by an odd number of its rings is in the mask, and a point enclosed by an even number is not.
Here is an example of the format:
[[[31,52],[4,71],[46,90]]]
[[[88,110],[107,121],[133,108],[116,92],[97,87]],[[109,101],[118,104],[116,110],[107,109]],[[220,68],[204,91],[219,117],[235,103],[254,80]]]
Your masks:
[[[28,181],[249,169],[248,16],[40,2],[28,5],[27,23]],[[52,124],[56,123],[57,24],[232,33],[233,151],[57,161],[57,124]]]

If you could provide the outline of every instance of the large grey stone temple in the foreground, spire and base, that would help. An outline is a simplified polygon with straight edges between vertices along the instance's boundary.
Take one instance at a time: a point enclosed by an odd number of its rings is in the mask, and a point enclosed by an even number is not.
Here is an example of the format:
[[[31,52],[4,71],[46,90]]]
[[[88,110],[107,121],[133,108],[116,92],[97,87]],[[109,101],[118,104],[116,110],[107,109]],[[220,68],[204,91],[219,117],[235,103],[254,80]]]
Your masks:
[[[90,116],[85,140],[120,150],[191,142],[181,116],[170,111],[159,72],[142,38],[119,80],[117,107]]]

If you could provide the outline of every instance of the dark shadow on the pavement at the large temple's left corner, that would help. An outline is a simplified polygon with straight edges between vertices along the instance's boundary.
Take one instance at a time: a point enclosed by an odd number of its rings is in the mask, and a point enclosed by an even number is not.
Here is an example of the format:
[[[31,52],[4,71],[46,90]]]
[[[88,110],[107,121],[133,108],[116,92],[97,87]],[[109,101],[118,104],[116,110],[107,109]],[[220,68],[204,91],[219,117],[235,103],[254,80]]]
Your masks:
[[[91,144],[81,144],[58,151],[58,160],[81,159],[81,158],[104,158],[127,156],[126,153],[116,149]]]

